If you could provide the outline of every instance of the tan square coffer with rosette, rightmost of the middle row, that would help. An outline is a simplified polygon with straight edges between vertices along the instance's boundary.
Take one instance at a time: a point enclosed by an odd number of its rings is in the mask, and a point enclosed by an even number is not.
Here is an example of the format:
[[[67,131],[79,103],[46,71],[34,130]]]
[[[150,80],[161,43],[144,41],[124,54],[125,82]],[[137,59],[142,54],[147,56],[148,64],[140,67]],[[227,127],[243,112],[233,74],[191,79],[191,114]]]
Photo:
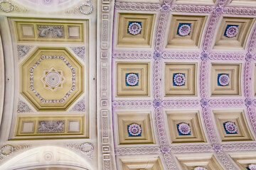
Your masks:
[[[210,89],[212,96],[241,96],[240,63],[212,63]]]

